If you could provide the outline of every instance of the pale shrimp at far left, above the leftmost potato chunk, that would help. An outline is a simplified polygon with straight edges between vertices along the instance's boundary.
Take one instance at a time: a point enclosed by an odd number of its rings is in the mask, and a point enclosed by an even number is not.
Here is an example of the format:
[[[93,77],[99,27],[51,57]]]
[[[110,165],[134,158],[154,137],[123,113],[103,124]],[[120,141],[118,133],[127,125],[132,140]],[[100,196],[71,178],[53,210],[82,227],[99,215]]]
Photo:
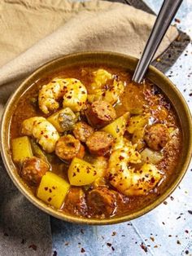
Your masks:
[[[59,133],[44,117],[30,117],[21,126],[23,135],[33,136],[46,152],[54,152]]]

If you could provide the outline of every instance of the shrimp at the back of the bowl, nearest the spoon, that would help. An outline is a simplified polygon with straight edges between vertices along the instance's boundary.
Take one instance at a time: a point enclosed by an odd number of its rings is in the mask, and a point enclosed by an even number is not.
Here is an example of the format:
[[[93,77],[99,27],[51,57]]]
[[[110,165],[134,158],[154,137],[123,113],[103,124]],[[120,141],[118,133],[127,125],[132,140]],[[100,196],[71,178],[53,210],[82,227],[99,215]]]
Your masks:
[[[88,95],[89,102],[104,100],[112,105],[115,104],[124,92],[124,82],[118,81],[116,77],[104,69],[98,69],[93,75],[94,82],[91,84],[91,94]]]

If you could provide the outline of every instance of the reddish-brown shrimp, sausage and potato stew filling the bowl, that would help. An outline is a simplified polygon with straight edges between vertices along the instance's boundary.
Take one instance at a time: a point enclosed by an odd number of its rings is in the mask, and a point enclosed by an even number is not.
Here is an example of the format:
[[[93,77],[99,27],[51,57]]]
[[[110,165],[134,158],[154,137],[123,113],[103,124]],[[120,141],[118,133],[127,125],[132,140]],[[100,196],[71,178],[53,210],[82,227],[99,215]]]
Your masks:
[[[11,118],[11,156],[55,210],[83,218],[132,213],[164,191],[181,128],[150,81],[105,65],[73,66],[34,83]]]

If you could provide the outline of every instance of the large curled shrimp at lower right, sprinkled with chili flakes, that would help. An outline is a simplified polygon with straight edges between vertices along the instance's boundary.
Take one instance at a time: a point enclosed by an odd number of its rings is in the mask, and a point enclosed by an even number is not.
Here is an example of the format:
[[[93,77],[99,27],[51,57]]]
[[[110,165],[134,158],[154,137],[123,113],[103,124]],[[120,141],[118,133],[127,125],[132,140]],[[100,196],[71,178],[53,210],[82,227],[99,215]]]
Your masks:
[[[129,167],[129,163],[141,163],[136,147],[123,137],[118,139],[108,163],[107,176],[111,185],[126,196],[146,195],[163,177],[151,164],[144,164],[140,170]]]

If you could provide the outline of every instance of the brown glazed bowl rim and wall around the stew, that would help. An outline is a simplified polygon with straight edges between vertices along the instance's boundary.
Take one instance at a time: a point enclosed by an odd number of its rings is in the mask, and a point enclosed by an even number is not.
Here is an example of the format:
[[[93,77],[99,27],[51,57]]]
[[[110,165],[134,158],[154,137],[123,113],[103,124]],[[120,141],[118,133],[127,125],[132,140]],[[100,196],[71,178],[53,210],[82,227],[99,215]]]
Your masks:
[[[49,73],[59,71],[62,68],[70,67],[76,64],[107,64],[113,67],[126,68],[133,72],[137,65],[137,59],[129,55],[120,55],[112,52],[94,51],[94,52],[81,52],[72,55],[66,55],[56,60],[51,60],[49,63],[44,64],[40,68],[37,68],[33,74],[31,74],[27,79],[22,82],[22,84],[15,90],[14,94],[7,102],[1,124],[1,153],[2,160],[6,166],[7,172],[10,175],[15,186],[28,198],[29,201],[36,205],[39,209],[43,210],[47,214],[50,214],[56,218],[63,219],[72,223],[85,223],[85,224],[95,224],[104,225],[112,223],[122,223],[124,221],[129,221],[133,218],[137,218],[143,214],[146,214],[150,210],[153,210],[157,205],[162,203],[173,191],[177,188],[178,184],[181,182],[185,171],[190,163],[190,157],[192,154],[192,125],[190,110],[185,103],[181,93],[177,90],[176,86],[165,77],[163,73],[159,72],[154,67],[150,67],[146,73],[151,82],[159,86],[163,90],[164,94],[167,95],[168,99],[171,101],[173,108],[179,117],[182,130],[183,148],[181,150],[180,161],[177,166],[175,174],[172,175],[172,179],[169,181],[164,192],[152,201],[149,205],[146,205],[140,210],[133,212],[132,214],[125,214],[120,217],[113,217],[107,219],[96,219],[96,218],[81,218],[78,216],[72,216],[69,214],[63,214],[58,210],[51,208],[42,201],[38,200],[37,197],[33,196],[33,193],[24,185],[23,181],[20,179],[19,174],[15,169],[15,165],[11,159],[10,143],[9,143],[9,126],[11,121],[11,116],[15,110],[15,106],[20,99],[20,96],[28,89],[29,86],[36,82],[41,77],[46,77]]]

